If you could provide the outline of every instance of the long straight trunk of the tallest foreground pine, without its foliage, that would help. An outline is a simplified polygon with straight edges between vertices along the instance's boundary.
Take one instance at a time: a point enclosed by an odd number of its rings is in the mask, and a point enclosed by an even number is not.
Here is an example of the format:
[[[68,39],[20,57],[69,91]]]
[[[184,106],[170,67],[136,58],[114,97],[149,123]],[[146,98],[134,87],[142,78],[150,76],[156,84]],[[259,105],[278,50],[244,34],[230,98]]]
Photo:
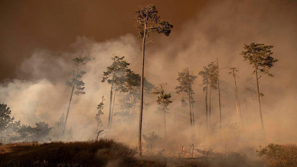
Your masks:
[[[146,43],[146,24],[147,18],[144,25],[143,31],[143,41],[142,41],[142,70],[141,70],[141,79],[140,79],[140,111],[139,111],[139,127],[138,127],[138,155],[142,156],[141,151],[141,128],[142,128],[142,110],[143,110],[143,72],[144,72],[144,46]]]

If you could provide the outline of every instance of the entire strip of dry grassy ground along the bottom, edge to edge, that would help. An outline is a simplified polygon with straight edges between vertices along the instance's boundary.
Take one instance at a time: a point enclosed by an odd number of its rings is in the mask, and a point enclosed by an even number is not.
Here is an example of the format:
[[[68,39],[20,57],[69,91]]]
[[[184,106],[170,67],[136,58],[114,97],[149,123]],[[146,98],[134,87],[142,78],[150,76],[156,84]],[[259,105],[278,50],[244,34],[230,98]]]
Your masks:
[[[249,149],[250,150],[250,149]],[[254,149],[251,149],[255,152]],[[183,158],[165,156],[136,157],[136,149],[112,139],[98,141],[55,141],[40,144],[21,142],[0,145],[2,167],[293,167],[297,146],[269,144],[258,151],[263,158],[251,159],[247,152],[212,152],[209,156]]]

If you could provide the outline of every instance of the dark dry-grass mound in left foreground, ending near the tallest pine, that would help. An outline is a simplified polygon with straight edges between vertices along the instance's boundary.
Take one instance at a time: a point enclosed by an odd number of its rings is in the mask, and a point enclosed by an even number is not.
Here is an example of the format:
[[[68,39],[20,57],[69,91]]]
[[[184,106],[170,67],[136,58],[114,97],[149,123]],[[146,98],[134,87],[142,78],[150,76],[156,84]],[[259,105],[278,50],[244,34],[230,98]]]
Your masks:
[[[21,142],[0,146],[0,166],[106,166],[135,161],[135,149],[111,139],[98,141]]]

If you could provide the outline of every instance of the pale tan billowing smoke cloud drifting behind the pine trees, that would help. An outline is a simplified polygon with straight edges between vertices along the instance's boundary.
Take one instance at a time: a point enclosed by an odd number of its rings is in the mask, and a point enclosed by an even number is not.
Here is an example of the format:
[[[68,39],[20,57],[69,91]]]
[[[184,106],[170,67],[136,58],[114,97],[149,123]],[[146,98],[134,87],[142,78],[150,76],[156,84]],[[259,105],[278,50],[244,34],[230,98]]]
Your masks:
[[[181,95],[175,93],[178,72],[189,67],[198,75],[203,66],[209,62],[219,60],[221,68],[233,66],[241,68],[238,80],[239,100],[244,118],[247,136],[238,141],[238,144],[247,143],[257,145],[251,136],[260,129],[257,109],[254,110],[252,98],[248,95],[247,126],[245,117],[245,103],[243,83],[247,77],[255,78],[252,67],[243,62],[244,43],[265,43],[274,45],[274,57],[279,62],[271,69],[274,78],[262,75],[260,92],[262,98],[264,124],[268,142],[296,142],[296,64],[297,61],[297,4],[291,1],[211,1],[194,20],[184,24],[181,31],[172,30],[169,37],[152,35],[155,43],[148,44],[145,60],[145,77],[153,84],[167,82],[166,90],[173,95],[173,103],[169,105],[167,127],[171,137],[180,134],[176,140],[184,141],[190,138],[189,114],[187,108],[181,108]],[[110,86],[101,83],[103,71],[111,64],[111,56],[116,53],[125,56],[130,68],[136,73],[141,68],[141,48],[137,37],[126,34],[117,39],[106,42],[95,42],[85,37],[78,37],[71,45],[71,53],[57,53],[37,50],[31,58],[24,60],[17,73],[26,76],[26,79],[15,79],[0,86],[0,99],[7,103],[16,119],[24,124],[34,124],[45,120],[51,125],[59,119],[69,101],[70,87],[64,82],[70,70],[74,68],[71,58],[89,53],[96,59],[83,67],[87,73],[82,80],[86,83],[86,94],[74,95],[69,113],[67,127],[72,127],[74,139],[86,140],[94,138],[96,123],[94,116],[100,98],[109,96]],[[21,78],[21,77],[20,77]],[[233,78],[227,70],[220,70],[222,80],[222,112],[223,122],[236,122],[236,105]],[[199,76],[193,87],[195,91],[195,132],[201,123],[201,138],[205,136],[205,102],[202,91],[202,79]],[[224,87],[225,86],[225,87]],[[212,122],[218,122],[217,91],[212,94]],[[154,95],[145,99],[151,105],[144,110],[143,132],[156,131],[162,136],[162,118],[154,111],[156,109]],[[36,104],[37,102],[37,104]],[[32,108],[32,106],[35,106]],[[107,124],[108,102],[105,101],[104,126]],[[257,107],[257,106],[256,106]],[[174,122],[176,113],[177,122]],[[105,134],[129,144],[136,144],[138,130],[138,116],[134,122],[121,126],[121,122],[114,123],[114,133]],[[116,118],[115,118],[116,119]],[[176,129],[177,128],[177,129]],[[169,135],[170,136],[170,135]],[[199,134],[200,136],[200,134]],[[217,139],[217,138],[215,138]],[[215,139],[204,141],[211,145]]]

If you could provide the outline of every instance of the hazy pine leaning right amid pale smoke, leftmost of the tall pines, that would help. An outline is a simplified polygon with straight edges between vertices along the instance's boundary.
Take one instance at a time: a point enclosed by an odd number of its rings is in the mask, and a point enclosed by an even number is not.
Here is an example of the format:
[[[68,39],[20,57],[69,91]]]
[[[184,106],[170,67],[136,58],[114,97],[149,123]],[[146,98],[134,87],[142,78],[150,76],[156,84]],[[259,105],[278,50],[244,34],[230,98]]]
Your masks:
[[[92,58],[92,59],[95,59],[95,58]],[[66,123],[67,123],[67,119],[68,119],[68,114],[69,114],[69,109],[70,109],[70,104],[71,104],[74,89],[76,89],[76,91],[74,92],[76,95],[86,93],[86,92],[83,92],[83,90],[85,89],[85,87],[84,87],[85,83],[81,80],[79,81],[78,78],[81,78],[83,76],[83,74],[86,73],[85,71],[80,70],[80,67],[83,65],[86,65],[86,63],[89,61],[91,61],[91,58],[87,54],[83,54],[83,55],[77,56],[74,59],[72,59],[72,62],[74,62],[75,66],[76,66],[76,70],[72,70],[70,72],[69,78],[66,81],[66,85],[71,86],[72,89],[71,89],[70,100],[68,103],[67,113],[66,113],[66,117],[65,117],[63,134],[64,134],[64,131],[66,128]]]

